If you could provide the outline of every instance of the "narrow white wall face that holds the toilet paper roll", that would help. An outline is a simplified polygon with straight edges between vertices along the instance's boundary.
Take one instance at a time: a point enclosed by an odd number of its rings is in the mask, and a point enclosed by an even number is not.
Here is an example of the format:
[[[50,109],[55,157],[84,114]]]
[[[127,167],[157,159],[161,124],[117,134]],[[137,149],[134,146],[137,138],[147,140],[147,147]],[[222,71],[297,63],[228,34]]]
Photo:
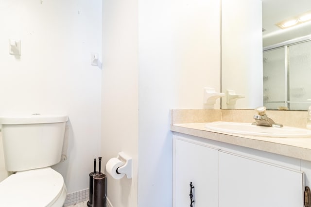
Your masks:
[[[138,0],[103,1],[102,155],[123,151],[133,158],[133,178],[107,175],[114,207],[137,206]]]

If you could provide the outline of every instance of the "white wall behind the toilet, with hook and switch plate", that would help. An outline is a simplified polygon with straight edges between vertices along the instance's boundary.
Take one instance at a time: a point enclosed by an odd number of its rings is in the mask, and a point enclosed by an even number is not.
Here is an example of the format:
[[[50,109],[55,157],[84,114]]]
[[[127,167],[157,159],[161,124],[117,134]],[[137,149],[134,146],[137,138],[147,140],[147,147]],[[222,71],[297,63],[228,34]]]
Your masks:
[[[69,115],[68,160],[54,166],[68,193],[88,188],[101,142],[101,0],[0,1],[0,115]],[[21,56],[8,40],[21,40]],[[2,149],[0,149],[2,151]],[[0,163],[3,166],[3,163]]]

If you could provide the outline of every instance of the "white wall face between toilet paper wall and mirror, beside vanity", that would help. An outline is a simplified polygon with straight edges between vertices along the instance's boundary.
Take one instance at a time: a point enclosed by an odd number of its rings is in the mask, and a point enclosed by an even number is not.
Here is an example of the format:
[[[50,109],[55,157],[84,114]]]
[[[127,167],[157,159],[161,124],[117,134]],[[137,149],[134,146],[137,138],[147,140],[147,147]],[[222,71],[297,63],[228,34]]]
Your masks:
[[[139,1],[139,207],[172,206],[170,109],[202,109],[206,86],[220,91],[220,2]]]

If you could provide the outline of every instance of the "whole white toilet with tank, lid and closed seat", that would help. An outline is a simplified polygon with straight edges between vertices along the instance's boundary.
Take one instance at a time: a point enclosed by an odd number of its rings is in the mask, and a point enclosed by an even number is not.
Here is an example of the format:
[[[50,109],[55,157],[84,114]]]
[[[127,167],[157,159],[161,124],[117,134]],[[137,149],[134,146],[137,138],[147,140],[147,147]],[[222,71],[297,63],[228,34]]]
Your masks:
[[[66,186],[50,166],[60,162],[68,116],[0,117],[5,168],[0,207],[62,207]]]

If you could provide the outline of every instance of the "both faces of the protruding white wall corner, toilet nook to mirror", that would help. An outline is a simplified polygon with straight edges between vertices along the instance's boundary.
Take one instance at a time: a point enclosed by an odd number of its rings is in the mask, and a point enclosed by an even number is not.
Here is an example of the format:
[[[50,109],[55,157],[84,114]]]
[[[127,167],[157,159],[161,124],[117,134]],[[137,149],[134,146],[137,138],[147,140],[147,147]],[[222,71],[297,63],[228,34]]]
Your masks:
[[[107,175],[114,207],[172,205],[170,109],[202,109],[206,86],[220,90],[219,2],[103,1],[102,154],[134,157],[132,180]]]

